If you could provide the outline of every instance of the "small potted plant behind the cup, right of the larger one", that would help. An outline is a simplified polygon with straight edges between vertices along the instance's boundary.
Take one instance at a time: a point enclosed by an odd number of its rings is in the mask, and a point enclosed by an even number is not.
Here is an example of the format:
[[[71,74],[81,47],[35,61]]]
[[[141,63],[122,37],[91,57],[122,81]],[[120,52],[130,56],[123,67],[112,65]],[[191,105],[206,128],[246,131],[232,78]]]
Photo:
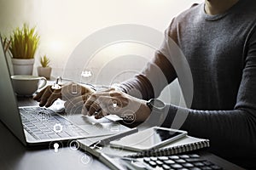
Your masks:
[[[38,76],[49,79],[51,73],[51,67],[49,67],[49,58],[44,55],[40,58],[40,63],[41,66],[38,66]]]

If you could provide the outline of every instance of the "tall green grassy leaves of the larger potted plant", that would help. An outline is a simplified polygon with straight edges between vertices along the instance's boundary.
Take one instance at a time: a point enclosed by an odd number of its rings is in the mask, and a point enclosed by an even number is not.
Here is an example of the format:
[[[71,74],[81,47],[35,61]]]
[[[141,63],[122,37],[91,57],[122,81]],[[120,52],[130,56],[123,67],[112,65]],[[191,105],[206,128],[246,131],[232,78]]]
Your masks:
[[[36,27],[29,28],[24,24],[22,28],[16,28],[9,37],[9,51],[15,59],[33,59],[39,39]]]

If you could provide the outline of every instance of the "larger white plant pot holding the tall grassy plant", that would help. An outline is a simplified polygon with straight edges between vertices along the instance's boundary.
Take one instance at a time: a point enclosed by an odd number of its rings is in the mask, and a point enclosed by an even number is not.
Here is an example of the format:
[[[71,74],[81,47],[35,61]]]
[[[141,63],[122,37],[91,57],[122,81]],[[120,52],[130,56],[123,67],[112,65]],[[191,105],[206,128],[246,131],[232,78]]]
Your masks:
[[[32,75],[35,59],[12,59],[14,75]]]

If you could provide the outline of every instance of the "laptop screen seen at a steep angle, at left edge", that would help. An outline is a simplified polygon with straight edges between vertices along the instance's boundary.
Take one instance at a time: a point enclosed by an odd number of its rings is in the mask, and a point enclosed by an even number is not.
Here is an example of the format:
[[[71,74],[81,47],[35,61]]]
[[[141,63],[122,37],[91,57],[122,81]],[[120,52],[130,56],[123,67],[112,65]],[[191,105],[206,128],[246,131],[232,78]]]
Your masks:
[[[0,39],[0,74],[0,120],[23,144],[26,144],[15,92],[10,79],[9,66],[3,52],[2,39]]]

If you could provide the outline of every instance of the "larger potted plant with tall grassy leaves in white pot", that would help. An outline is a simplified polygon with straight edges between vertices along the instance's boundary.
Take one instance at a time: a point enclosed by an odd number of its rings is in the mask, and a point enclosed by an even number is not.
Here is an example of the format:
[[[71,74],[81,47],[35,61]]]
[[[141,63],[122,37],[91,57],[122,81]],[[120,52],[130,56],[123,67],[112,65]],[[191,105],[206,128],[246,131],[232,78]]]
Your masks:
[[[38,48],[39,36],[35,27],[26,24],[17,27],[9,37],[9,51],[15,75],[32,75],[34,56]]]

